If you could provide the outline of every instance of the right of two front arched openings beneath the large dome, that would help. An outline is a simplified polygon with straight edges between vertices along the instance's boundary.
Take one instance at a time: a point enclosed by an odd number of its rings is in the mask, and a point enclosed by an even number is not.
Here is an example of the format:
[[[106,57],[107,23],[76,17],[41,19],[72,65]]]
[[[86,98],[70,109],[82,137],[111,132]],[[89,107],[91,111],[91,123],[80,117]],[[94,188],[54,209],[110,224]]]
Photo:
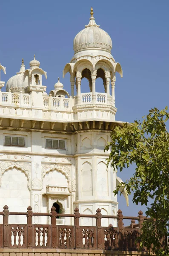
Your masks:
[[[106,79],[104,70],[99,68],[96,74],[96,92],[106,93]]]

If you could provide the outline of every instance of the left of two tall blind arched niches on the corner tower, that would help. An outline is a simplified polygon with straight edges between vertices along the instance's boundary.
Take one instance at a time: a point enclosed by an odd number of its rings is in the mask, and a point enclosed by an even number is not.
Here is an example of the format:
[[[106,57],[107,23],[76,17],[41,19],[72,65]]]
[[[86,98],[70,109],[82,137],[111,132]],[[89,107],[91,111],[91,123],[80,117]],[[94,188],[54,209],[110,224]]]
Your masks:
[[[93,186],[92,186],[92,165],[88,161],[83,163],[81,168],[81,190],[82,196],[91,196],[93,195]]]

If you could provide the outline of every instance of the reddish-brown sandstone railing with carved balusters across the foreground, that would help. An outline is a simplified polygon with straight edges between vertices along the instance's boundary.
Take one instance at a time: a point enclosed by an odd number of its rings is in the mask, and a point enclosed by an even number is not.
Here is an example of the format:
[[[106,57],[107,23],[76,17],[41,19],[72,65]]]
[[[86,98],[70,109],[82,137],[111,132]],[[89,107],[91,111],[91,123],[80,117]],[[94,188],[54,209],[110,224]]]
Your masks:
[[[3,207],[3,224],[0,224],[0,248],[60,248],[60,249],[101,249],[101,250],[139,250],[140,229],[143,225],[143,212],[138,212],[138,217],[123,216],[119,209],[117,216],[102,215],[97,209],[95,215],[84,215],[79,209],[74,209],[74,214],[58,214],[55,207],[51,213],[32,212],[32,207],[27,212],[9,212],[8,206]],[[9,215],[26,215],[27,224],[9,224]],[[50,216],[51,224],[32,224],[32,216]],[[74,218],[74,226],[56,225],[56,217]],[[80,226],[82,217],[95,218],[96,226]],[[117,227],[101,227],[101,219],[117,219]],[[123,226],[123,219],[131,219],[131,225]],[[138,224],[135,224],[135,220]]]

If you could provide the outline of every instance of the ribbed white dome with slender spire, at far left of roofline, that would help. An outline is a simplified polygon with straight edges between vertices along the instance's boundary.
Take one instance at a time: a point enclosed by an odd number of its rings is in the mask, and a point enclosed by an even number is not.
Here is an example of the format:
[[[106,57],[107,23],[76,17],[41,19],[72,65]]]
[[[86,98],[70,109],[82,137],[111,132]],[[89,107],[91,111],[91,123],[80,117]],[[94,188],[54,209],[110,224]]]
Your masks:
[[[28,81],[23,81],[23,74],[25,72],[25,65],[22,59],[22,65],[20,67],[20,72],[15,76],[12,76],[6,83],[6,91],[11,90],[11,92],[23,91],[26,86],[28,86]]]

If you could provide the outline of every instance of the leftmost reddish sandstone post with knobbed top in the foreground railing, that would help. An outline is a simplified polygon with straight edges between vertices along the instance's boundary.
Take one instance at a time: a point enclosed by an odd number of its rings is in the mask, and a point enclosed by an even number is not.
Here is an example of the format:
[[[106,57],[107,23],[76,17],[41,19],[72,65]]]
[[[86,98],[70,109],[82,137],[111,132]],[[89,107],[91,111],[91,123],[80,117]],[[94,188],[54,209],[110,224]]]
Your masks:
[[[3,247],[8,248],[9,247],[9,236],[11,236],[11,233],[9,233],[9,224],[8,224],[8,219],[9,219],[9,210],[8,206],[5,205],[3,207],[3,226],[4,226],[4,239],[3,239]]]

